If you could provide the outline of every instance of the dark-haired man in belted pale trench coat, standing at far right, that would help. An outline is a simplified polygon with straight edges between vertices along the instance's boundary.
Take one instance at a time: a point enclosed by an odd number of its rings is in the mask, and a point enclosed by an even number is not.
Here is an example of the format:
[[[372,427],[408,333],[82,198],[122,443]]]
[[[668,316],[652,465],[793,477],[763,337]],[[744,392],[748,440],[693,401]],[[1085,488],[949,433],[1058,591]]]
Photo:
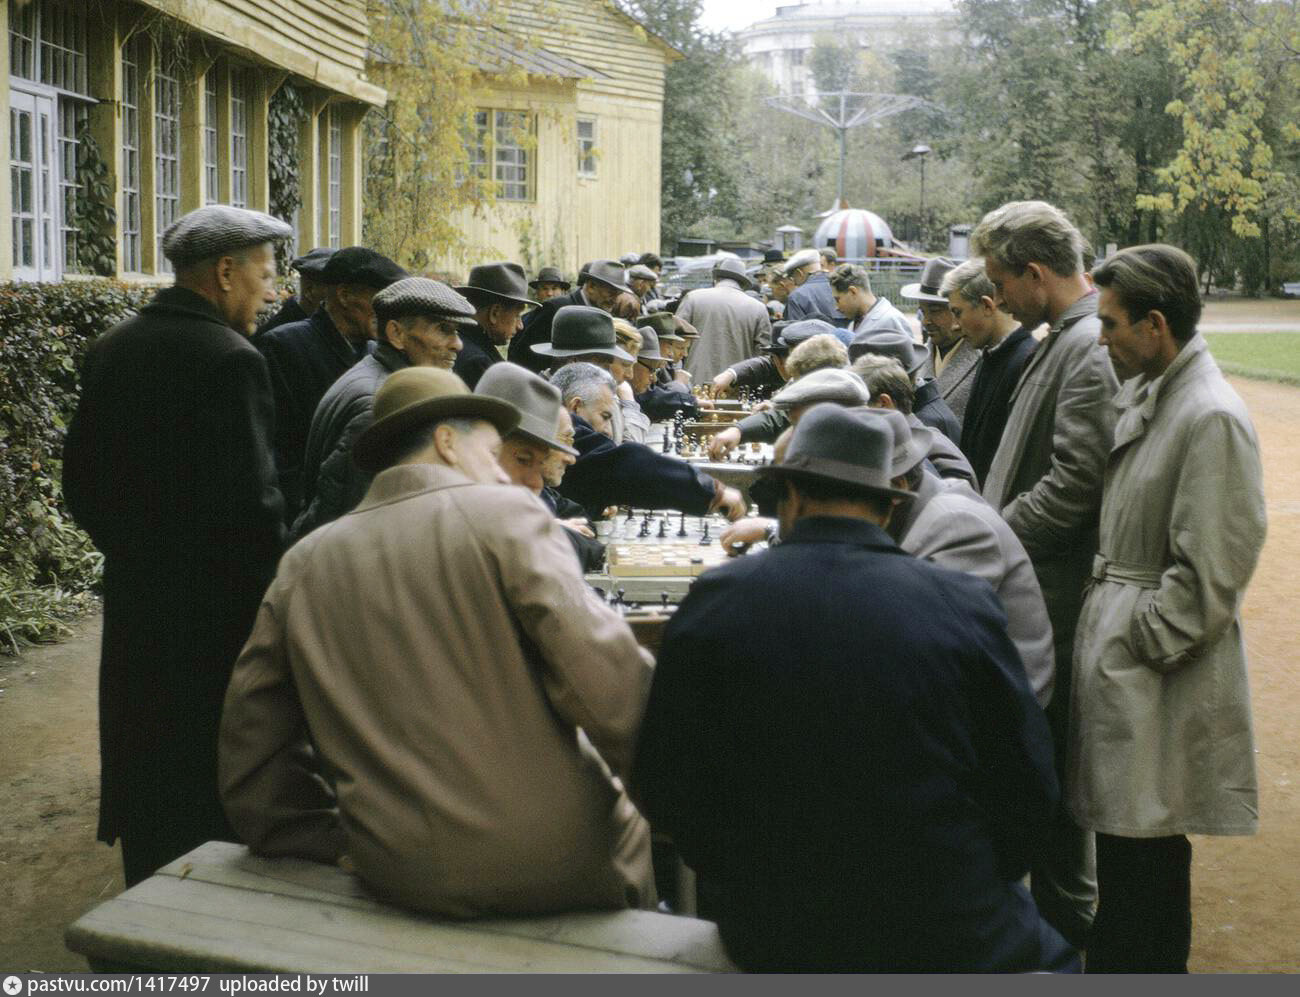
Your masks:
[[[1124,378],[1079,619],[1066,799],[1097,836],[1089,972],[1186,972],[1187,835],[1253,835],[1242,597],[1260,558],[1260,446],[1196,329],[1196,264],[1173,246],[1093,272]]]

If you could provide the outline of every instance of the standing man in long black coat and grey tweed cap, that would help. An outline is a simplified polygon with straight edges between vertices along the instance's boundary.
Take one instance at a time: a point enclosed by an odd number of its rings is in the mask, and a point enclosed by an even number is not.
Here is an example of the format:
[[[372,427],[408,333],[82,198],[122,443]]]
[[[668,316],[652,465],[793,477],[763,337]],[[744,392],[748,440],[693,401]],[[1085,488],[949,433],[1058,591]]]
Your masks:
[[[248,342],[291,229],[211,205],[162,237],[176,286],[90,347],[64,495],[104,554],[99,838],[134,885],[231,840],[217,796],[230,667],[283,546],[276,417]]]

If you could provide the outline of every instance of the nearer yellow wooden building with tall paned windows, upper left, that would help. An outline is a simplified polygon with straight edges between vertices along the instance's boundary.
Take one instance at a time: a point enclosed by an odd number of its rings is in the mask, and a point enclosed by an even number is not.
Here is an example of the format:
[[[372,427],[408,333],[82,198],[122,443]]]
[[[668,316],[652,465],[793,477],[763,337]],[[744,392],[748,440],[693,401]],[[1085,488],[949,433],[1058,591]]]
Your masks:
[[[361,240],[365,0],[0,0],[0,281],[78,263],[79,135],[101,151],[116,273],[168,272],[162,231],[203,204],[266,211],[268,107],[291,83],[296,244]]]

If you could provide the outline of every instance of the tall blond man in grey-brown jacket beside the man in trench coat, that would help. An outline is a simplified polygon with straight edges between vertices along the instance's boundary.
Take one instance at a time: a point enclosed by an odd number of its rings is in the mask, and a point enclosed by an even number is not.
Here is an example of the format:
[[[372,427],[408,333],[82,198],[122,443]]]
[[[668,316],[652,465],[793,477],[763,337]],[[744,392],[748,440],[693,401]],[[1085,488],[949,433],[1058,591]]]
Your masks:
[[[998,300],[1027,329],[1048,334],[1024,367],[984,498],[1015,530],[1043,588],[1056,636],[1057,688],[1048,706],[1057,773],[1065,773],[1071,658],[1083,588],[1097,550],[1102,472],[1114,438],[1119,387],[1097,343],[1097,292],[1083,273],[1084,240],[1045,201],[1011,201],[971,233]],[[1043,915],[1087,946],[1097,884],[1092,836],[1062,810],[1034,866]]]

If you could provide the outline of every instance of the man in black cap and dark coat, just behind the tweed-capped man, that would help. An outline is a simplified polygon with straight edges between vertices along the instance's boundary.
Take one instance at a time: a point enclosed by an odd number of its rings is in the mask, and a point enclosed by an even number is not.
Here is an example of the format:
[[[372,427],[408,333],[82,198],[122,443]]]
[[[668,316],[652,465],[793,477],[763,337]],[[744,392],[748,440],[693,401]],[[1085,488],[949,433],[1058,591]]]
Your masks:
[[[406,277],[393,260],[363,246],[339,250],[321,269],[325,304],[308,318],[272,329],[255,341],[276,391],[276,467],[292,523],[307,500],[303,455],[316,406],[344,370],[365,356],[374,338],[376,292]]]

